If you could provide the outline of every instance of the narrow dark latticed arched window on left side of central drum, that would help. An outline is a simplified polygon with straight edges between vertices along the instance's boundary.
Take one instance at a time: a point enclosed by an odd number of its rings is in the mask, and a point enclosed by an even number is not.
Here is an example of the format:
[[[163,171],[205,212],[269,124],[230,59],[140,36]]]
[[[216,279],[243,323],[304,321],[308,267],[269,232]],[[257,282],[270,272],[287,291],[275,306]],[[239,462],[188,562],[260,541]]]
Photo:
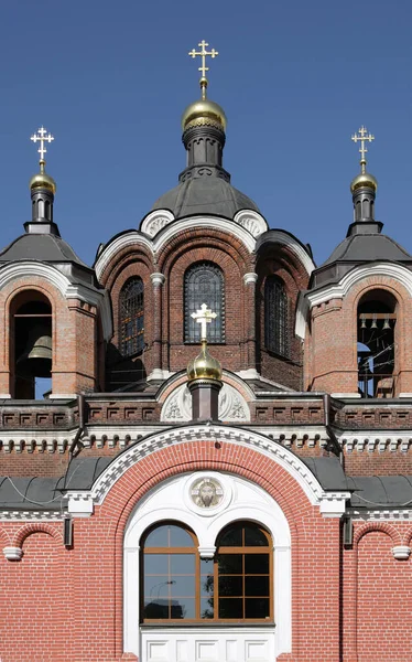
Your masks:
[[[123,356],[141,352],[144,346],[144,292],[141,278],[123,286],[119,299],[119,342]]]

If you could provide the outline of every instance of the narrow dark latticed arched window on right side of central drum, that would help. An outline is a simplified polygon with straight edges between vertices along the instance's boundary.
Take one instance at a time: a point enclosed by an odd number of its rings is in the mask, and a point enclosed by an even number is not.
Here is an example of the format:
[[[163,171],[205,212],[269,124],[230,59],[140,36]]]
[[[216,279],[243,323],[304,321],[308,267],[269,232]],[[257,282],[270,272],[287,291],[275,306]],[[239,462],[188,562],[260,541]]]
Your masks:
[[[290,354],[289,306],[284,285],[278,276],[264,282],[264,344],[267,350],[288,357]]]

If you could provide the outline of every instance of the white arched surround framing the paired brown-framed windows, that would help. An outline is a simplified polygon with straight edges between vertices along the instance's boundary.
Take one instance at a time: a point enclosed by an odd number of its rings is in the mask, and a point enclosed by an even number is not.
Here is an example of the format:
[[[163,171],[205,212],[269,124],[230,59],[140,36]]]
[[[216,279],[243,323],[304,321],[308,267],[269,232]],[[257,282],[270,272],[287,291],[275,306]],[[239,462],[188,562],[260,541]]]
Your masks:
[[[189,474],[194,480],[197,472]],[[200,472],[199,472],[200,476]],[[140,541],[148,527],[164,520],[174,520],[189,526],[199,542],[199,551],[210,557],[215,549],[216,537],[229,523],[239,520],[251,520],[262,524],[271,534],[273,541],[273,596],[277,626],[265,628],[265,632],[274,637],[275,652],[270,659],[275,659],[282,652],[291,651],[292,634],[292,581],[291,581],[291,535],[288,520],[279,504],[259,485],[229,473],[215,472],[219,482],[232,483],[234,500],[220,513],[212,517],[202,517],[187,510],[182,500],[182,492],[187,485],[187,474],[167,479],[151,490],[135,506],[124,531],[123,547],[123,650],[142,654],[139,623],[139,578]],[[251,639],[259,631],[259,626],[242,626],[250,629]],[[167,627],[164,628],[167,630]],[[163,630],[163,628],[162,628]],[[207,632],[207,622],[200,628],[178,628],[182,634],[196,637]],[[144,629],[147,631],[147,628]],[[175,627],[173,627],[175,631]],[[221,632],[212,628],[215,636]],[[228,634],[236,638],[236,626],[228,628]],[[164,632],[163,632],[164,637]],[[242,659],[243,660],[243,659]]]

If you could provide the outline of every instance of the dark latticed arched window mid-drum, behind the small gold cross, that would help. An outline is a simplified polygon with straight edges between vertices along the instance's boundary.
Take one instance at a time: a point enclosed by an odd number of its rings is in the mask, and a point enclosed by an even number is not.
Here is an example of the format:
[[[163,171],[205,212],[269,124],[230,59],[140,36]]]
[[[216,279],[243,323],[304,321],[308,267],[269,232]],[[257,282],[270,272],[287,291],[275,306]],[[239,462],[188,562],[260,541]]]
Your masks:
[[[185,273],[185,342],[200,342],[200,324],[192,318],[192,312],[196,312],[202,303],[217,313],[217,318],[207,327],[208,342],[225,342],[224,275],[219,267],[210,263],[199,263]]]

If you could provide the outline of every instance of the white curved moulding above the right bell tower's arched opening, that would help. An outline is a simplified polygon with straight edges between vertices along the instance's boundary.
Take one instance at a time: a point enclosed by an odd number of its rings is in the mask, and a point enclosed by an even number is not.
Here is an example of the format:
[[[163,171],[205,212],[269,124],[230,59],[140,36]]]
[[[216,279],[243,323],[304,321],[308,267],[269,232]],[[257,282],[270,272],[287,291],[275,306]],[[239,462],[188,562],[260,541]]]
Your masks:
[[[406,269],[403,265],[377,261],[355,267],[346,274],[339,282],[325,286],[321,290],[307,292],[306,298],[311,308],[319,306],[330,299],[343,299],[357,282],[372,276],[387,276],[388,278],[393,278],[403,285],[408,293],[412,296],[412,271]],[[379,286],[381,284],[379,284]]]

